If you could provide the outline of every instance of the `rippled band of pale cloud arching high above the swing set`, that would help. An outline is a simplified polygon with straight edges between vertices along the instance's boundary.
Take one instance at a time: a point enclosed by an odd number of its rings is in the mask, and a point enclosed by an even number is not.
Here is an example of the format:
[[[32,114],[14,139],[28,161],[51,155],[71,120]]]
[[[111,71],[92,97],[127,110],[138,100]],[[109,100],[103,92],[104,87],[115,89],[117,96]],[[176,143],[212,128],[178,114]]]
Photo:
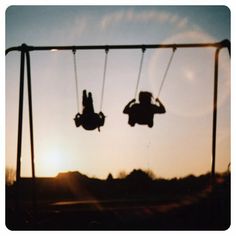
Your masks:
[[[100,21],[100,27],[105,30],[113,24],[117,23],[148,23],[155,22],[159,24],[171,24],[177,28],[185,28],[188,25],[187,17],[180,17],[167,11],[142,11],[135,12],[133,10],[116,11],[105,15]]]

